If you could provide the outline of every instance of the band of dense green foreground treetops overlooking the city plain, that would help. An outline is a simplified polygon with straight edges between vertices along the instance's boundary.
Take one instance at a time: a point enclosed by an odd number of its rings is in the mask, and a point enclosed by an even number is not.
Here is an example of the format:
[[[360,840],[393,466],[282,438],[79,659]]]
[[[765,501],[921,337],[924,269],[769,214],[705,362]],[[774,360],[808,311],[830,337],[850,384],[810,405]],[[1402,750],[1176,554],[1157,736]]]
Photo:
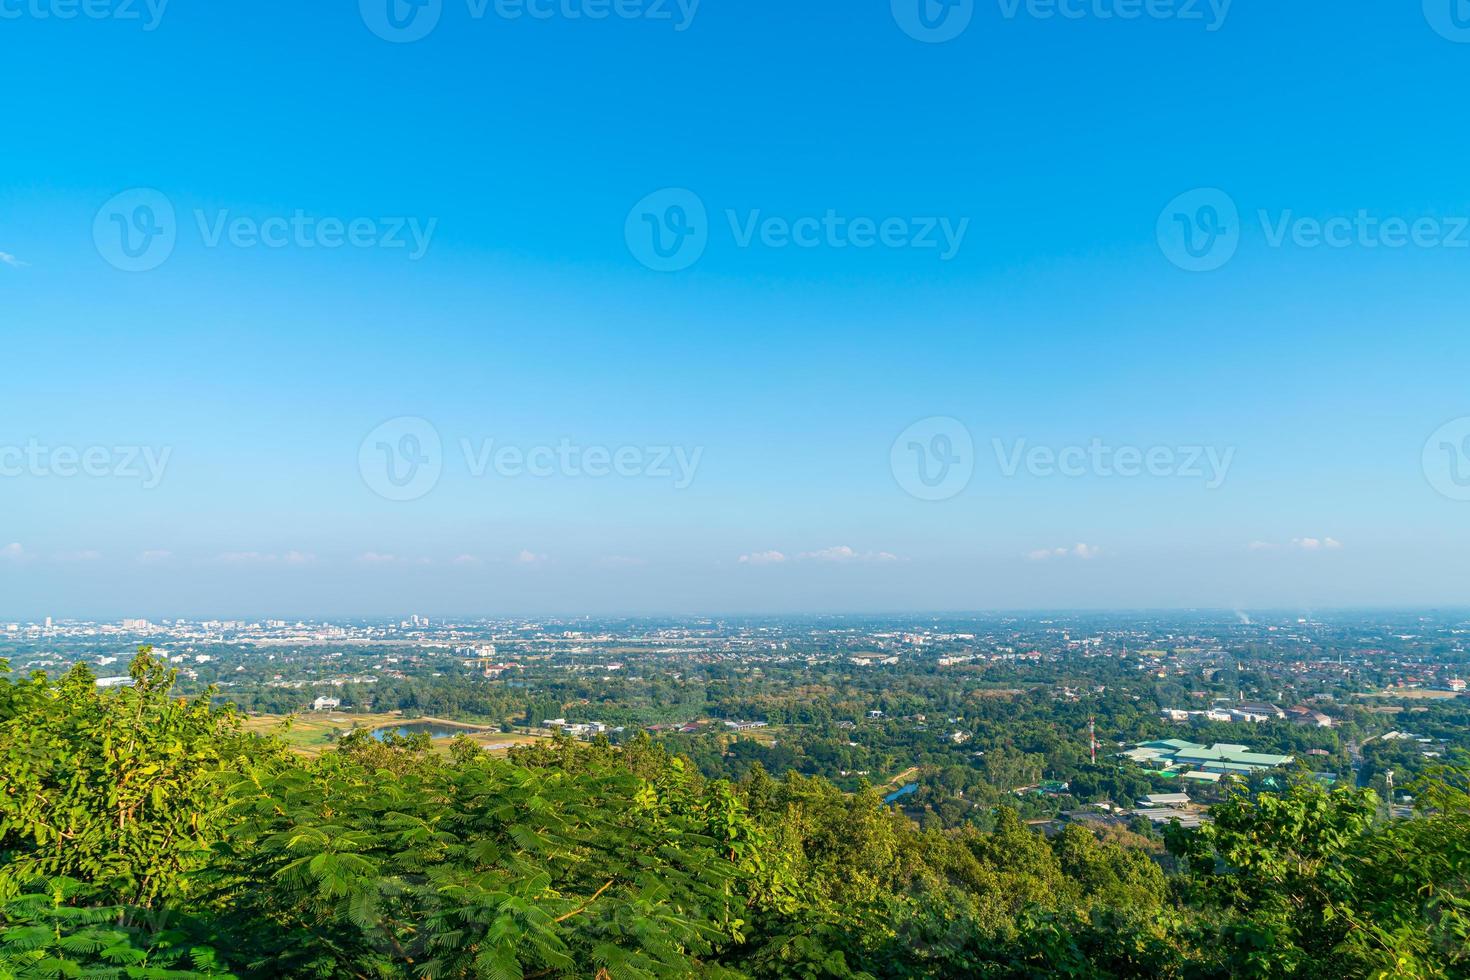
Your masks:
[[[1470,973],[1470,767],[1419,814],[1311,782],[1157,839],[638,735],[303,757],[147,649],[0,676],[0,977],[1439,977]],[[1025,765],[1023,758],[1005,761]]]

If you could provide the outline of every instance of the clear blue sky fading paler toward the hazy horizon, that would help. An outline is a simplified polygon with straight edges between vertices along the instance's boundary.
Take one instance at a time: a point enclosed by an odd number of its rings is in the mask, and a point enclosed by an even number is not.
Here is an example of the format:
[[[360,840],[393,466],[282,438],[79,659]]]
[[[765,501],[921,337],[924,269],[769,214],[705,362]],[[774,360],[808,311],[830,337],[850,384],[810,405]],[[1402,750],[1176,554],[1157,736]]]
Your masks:
[[[0,617],[1463,602],[1448,0],[906,1],[0,1]]]

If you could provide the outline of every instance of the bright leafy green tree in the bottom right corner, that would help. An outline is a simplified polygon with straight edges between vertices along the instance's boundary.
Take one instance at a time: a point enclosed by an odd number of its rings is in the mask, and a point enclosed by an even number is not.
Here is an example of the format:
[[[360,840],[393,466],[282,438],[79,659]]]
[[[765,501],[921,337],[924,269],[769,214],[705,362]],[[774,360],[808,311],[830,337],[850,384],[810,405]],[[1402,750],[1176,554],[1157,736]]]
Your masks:
[[[1232,796],[1175,827],[1186,899],[1219,914],[1230,976],[1441,977],[1470,968],[1467,770],[1445,768],[1416,820],[1376,823],[1370,790]]]

